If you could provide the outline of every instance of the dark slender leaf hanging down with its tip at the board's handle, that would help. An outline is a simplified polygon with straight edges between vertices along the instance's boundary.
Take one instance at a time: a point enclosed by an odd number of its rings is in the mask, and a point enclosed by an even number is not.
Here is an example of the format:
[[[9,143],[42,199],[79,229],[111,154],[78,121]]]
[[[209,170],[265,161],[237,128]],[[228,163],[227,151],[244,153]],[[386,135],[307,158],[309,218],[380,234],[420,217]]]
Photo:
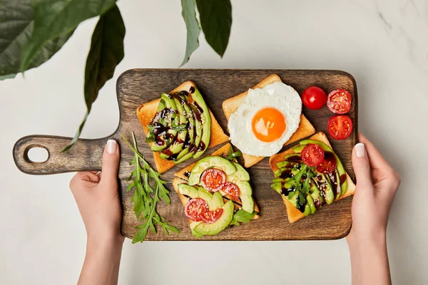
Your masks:
[[[122,61],[123,38],[125,38],[125,24],[121,11],[115,5],[100,17],[93,30],[91,49],[85,68],[85,101],[88,110],[70,145],[63,151],[68,150],[78,140],[99,90],[113,77],[116,66]]]

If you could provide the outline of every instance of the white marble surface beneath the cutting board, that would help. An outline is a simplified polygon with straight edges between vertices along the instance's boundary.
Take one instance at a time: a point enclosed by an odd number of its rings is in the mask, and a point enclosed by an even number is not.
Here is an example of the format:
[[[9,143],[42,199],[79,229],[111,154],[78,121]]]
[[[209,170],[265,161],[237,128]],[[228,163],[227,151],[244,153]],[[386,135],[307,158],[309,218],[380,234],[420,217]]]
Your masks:
[[[168,3],[168,5],[167,5]],[[129,68],[183,58],[180,1],[119,1],[126,57],[93,105],[83,138],[113,133],[115,83]],[[75,284],[85,254],[72,174],[29,176],[11,150],[24,135],[72,136],[85,112],[83,70],[96,19],[26,78],[0,82],[0,284]],[[233,1],[220,59],[201,36],[187,68],[326,68],[357,81],[360,130],[402,175],[388,249],[394,284],[428,284],[428,1]],[[326,224],[328,227],[328,224]],[[204,262],[201,262],[203,260]],[[120,284],[350,284],[345,239],[332,242],[145,242],[123,249]]]

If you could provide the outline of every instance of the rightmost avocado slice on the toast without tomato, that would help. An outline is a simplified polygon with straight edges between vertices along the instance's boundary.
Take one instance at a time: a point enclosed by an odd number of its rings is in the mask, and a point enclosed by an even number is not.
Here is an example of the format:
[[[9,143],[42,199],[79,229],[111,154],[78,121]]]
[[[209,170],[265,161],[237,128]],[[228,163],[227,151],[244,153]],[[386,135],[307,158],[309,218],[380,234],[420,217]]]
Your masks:
[[[211,116],[208,106],[205,103],[205,100],[203,100],[203,96],[200,94],[198,88],[194,89],[195,90],[193,93],[188,93],[188,101],[198,110],[198,114],[200,115],[200,120],[202,123],[202,137],[200,138],[200,142],[202,143],[198,145],[196,153],[193,155],[193,158],[196,159],[200,157],[200,155],[203,155],[203,152],[205,152],[205,150],[208,148],[208,145],[210,145]]]

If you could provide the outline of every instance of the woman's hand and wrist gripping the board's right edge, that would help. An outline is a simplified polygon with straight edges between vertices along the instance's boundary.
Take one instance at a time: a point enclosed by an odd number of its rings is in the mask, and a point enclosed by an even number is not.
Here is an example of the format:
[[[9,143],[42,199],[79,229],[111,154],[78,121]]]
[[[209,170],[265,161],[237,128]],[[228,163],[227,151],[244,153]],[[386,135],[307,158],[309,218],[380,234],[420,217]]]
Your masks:
[[[372,142],[359,135],[352,151],[357,190],[352,200],[352,229],[347,236],[352,284],[391,284],[386,234],[399,175]]]

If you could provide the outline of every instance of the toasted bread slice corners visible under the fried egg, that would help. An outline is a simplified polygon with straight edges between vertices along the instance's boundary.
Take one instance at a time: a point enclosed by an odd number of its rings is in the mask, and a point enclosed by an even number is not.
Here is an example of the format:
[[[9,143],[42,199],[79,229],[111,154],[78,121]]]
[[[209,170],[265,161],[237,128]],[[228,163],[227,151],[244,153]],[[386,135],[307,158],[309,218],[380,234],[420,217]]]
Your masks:
[[[267,78],[263,79],[263,81],[260,81],[260,83],[255,85],[253,89],[263,88],[274,82],[282,82],[280,76],[277,76],[277,74],[272,74],[271,76],[268,76]],[[238,109],[240,103],[243,102],[247,94],[248,94],[248,90],[243,93],[240,93],[239,95],[236,95],[234,97],[228,98],[223,101],[223,113],[225,113],[225,116],[228,120],[230,118],[230,115],[232,115]],[[284,146],[290,145],[290,143],[292,142],[297,142],[297,140],[306,138],[314,133],[315,133],[315,128],[312,126],[309,120],[307,120],[305,115],[301,114],[299,127],[297,128],[295,133],[292,134],[292,136],[290,137],[290,140],[287,140],[287,142],[285,142]],[[260,160],[263,160],[263,158],[265,157],[246,155],[245,153],[243,153],[243,158],[245,162],[244,166],[251,167],[256,163],[260,162]]]

